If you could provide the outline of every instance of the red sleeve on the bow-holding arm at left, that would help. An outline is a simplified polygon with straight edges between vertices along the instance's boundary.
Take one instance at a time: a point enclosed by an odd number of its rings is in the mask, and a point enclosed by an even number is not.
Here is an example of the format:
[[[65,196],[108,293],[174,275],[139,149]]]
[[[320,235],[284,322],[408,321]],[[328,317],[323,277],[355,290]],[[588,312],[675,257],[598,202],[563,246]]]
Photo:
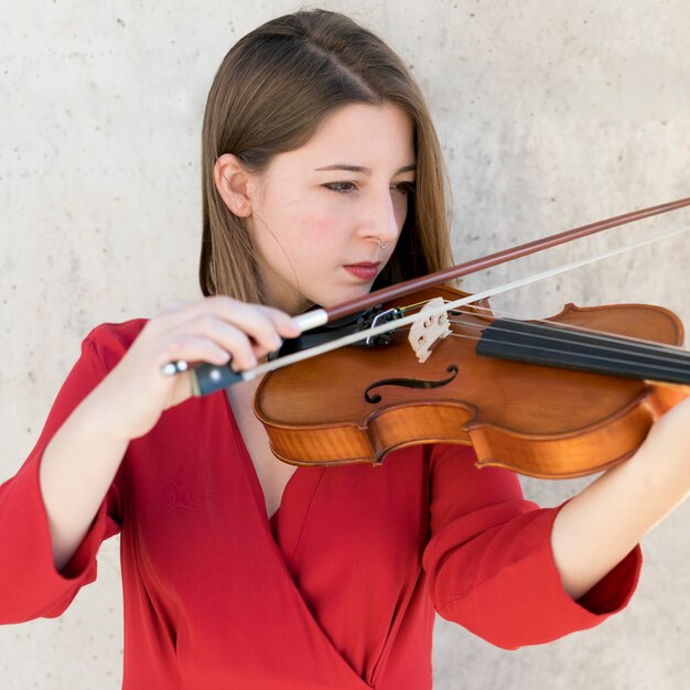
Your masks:
[[[97,550],[119,529],[119,497],[114,485],[80,547],[58,572],[39,484],[41,457],[48,441],[104,376],[96,346],[88,337],[35,448],[19,472],[0,485],[0,623],[62,614],[78,590],[96,579]]]

